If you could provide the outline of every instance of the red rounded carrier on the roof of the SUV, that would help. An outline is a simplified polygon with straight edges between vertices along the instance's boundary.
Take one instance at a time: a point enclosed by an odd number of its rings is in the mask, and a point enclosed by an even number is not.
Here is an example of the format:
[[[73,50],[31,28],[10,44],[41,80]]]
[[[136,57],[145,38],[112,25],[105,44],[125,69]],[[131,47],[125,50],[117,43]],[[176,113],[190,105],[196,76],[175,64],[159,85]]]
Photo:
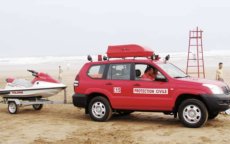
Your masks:
[[[136,44],[108,46],[108,58],[151,57],[154,52]]]

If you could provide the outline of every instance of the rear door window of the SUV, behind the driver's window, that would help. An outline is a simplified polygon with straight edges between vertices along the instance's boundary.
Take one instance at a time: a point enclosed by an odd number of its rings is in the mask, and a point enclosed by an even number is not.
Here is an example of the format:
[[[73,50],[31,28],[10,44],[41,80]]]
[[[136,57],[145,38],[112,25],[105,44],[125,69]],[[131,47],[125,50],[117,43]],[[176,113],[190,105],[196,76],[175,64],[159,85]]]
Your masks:
[[[131,64],[110,64],[107,79],[130,80]]]

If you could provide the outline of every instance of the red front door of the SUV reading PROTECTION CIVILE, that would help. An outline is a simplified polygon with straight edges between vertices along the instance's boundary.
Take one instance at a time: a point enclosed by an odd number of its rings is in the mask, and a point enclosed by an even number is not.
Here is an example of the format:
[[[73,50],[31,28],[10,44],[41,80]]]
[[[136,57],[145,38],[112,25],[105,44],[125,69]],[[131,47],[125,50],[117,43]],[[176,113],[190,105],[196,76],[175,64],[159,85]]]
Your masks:
[[[135,80],[130,81],[127,86],[129,88],[128,102],[131,108],[136,110],[170,110],[172,101],[170,84],[167,80],[142,79],[145,72],[143,68],[148,66],[146,64],[135,65]],[[137,74],[138,71],[141,74]],[[160,71],[157,72],[157,75],[164,77]]]

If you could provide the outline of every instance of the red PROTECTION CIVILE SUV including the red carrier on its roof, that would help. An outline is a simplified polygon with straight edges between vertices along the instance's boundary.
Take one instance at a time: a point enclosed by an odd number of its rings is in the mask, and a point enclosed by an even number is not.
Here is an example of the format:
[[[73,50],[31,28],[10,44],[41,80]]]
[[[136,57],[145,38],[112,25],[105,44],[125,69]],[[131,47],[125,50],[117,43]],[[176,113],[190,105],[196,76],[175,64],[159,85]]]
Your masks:
[[[190,77],[152,50],[109,46],[107,56],[95,62],[89,57],[74,81],[73,104],[95,121],[107,121],[113,113],[149,111],[178,115],[195,128],[229,109],[225,83]]]

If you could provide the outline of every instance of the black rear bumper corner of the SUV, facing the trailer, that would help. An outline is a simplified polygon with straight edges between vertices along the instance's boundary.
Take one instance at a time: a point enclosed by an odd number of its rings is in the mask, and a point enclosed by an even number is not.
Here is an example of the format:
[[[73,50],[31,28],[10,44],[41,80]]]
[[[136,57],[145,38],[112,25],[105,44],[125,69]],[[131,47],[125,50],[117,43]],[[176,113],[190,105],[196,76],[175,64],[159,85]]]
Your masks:
[[[73,105],[76,107],[83,107],[85,108],[87,105],[87,96],[83,94],[74,94],[72,96]]]

